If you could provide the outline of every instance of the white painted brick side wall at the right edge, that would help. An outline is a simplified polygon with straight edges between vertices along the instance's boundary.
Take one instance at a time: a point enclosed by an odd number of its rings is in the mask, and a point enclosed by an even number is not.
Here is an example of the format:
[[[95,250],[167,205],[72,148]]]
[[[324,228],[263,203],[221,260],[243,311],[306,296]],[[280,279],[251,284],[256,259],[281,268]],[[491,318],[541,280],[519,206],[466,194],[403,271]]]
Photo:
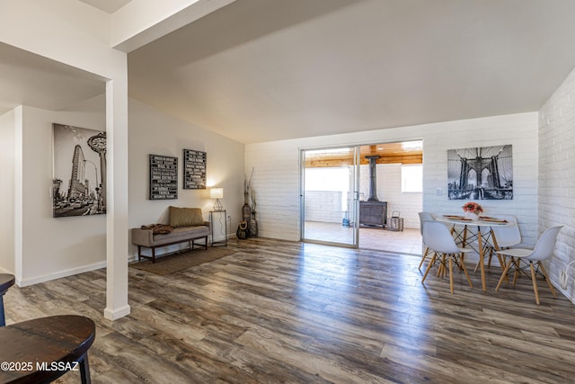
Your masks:
[[[539,233],[563,225],[547,267],[553,285],[575,260],[575,71],[539,111]],[[575,302],[575,263],[562,292]]]

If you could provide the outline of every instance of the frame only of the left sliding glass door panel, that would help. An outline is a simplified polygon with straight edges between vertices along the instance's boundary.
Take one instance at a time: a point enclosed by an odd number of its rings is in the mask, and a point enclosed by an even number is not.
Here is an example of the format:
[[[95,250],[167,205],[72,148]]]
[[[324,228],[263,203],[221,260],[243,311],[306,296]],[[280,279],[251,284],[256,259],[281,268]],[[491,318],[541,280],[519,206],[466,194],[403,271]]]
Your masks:
[[[349,196],[351,199],[349,201],[349,228],[352,230],[351,244],[341,243],[337,241],[327,241],[320,239],[305,238],[305,154],[310,151],[321,151],[321,150],[337,150],[349,148],[353,152],[353,164],[352,171],[353,175],[351,177],[351,184],[349,191]],[[314,243],[323,244],[329,246],[343,246],[349,248],[358,248],[359,246],[359,146],[358,145],[342,145],[333,147],[305,147],[300,148],[300,174],[299,174],[299,207],[300,207],[300,240],[304,243]],[[351,209],[353,208],[353,210]],[[352,214],[350,214],[352,212]]]

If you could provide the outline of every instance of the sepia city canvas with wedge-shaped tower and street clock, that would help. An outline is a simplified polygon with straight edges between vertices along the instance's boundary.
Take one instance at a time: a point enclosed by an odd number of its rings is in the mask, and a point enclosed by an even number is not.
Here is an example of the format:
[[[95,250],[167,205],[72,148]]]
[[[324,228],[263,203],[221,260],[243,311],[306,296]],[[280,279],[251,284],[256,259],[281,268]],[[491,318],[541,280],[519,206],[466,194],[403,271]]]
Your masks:
[[[106,132],[54,123],[53,217],[106,213]]]

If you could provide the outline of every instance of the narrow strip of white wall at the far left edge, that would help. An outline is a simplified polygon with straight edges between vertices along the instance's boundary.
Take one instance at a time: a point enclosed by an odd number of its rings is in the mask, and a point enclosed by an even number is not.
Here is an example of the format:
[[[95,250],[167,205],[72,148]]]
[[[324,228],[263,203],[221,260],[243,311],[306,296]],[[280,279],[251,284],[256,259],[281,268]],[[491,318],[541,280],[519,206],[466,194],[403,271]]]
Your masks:
[[[14,111],[0,116],[0,272],[14,273]]]

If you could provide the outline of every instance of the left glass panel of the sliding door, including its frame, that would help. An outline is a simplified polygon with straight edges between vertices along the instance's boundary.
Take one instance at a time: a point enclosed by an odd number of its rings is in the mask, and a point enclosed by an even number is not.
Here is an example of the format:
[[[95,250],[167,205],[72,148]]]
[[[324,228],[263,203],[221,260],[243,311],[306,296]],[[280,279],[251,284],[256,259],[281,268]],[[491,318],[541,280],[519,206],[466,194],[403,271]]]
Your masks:
[[[358,246],[358,147],[301,151],[302,240]]]

